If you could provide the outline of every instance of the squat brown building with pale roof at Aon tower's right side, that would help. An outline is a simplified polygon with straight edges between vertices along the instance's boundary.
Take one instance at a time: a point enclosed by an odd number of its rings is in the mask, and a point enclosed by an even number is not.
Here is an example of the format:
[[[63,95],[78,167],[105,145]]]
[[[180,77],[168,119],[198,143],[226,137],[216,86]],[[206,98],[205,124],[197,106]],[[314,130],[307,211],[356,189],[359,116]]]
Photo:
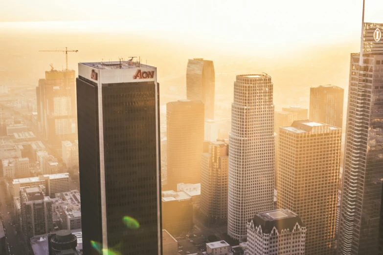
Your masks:
[[[193,229],[193,205],[184,191],[162,191],[162,228],[172,235]]]

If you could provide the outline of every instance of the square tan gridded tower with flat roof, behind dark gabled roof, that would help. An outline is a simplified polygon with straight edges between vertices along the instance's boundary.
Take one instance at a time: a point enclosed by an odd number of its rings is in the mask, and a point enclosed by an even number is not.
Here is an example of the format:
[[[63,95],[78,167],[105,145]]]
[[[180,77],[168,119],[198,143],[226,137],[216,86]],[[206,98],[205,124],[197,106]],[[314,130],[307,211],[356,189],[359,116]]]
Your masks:
[[[305,255],[333,255],[341,128],[294,121],[279,128],[277,208],[306,224]]]

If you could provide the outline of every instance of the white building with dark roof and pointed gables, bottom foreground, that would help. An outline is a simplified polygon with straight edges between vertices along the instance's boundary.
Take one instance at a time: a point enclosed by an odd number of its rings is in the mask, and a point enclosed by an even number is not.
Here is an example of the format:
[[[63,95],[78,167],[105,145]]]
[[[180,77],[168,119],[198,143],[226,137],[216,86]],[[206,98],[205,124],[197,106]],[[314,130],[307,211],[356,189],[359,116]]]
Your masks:
[[[258,213],[247,224],[249,255],[304,255],[306,225],[290,210]]]

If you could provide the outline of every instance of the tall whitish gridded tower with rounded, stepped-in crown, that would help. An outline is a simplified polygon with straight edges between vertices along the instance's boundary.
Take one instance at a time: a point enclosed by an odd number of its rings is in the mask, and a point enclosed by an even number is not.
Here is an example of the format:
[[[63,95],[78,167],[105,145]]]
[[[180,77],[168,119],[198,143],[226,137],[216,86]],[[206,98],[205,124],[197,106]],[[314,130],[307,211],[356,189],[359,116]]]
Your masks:
[[[246,224],[273,209],[275,172],[273,84],[267,74],[237,75],[231,104],[227,234],[246,237]]]

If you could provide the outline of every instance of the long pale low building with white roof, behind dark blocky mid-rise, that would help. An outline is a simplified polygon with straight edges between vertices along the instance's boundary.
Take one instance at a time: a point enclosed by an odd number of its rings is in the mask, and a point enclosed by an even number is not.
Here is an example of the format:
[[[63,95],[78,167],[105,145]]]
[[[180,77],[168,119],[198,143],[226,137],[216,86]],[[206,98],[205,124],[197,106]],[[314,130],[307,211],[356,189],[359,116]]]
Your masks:
[[[46,195],[51,198],[55,197],[55,193],[69,191],[69,174],[56,173],[45,174],[36,177],[14,179],[12,182],[13,196],[18,197],[20,188],[33,187],[36,185],[44,185]]]

